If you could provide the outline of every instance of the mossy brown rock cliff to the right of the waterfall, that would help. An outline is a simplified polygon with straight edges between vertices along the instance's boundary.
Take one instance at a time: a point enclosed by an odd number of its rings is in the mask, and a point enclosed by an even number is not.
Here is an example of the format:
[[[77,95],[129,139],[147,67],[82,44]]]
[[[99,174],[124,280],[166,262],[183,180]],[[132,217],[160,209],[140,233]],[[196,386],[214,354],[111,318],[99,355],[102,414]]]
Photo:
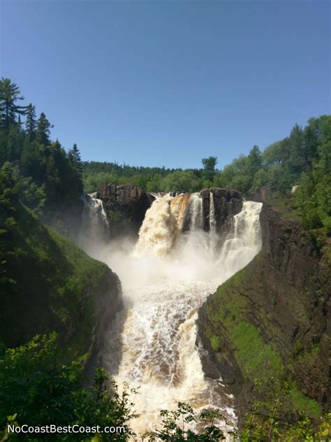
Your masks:
[[[254,361],[247,362],[251,354],[261,361],[269,355],[265,370],[277,361],[274,366],[284,370],[299,394],[324,411],[331,401],[330,257],[316,248],[300,222],[282,219],[267,204],[260,222],[261,252],[210,295],[198,318],[204,371],[228,385],[240,422],[256,392],[256,371],[249,365]],[[245,342],[245,332],[238,333],[245,327],[256,336],[255,347],[253,337]]]

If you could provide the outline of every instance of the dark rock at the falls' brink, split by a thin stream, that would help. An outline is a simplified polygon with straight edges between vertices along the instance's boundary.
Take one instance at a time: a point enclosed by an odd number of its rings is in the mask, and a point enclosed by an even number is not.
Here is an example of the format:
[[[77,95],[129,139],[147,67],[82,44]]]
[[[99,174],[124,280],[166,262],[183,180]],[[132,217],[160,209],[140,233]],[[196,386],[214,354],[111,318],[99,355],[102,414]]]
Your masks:
[[[226,229],[226,222],[242,210],[242,194],[237,190],[211,187],[200,191],[203,199],[203,229],[209,231],[210,197],[214,199],[216,232],[221,234]]]

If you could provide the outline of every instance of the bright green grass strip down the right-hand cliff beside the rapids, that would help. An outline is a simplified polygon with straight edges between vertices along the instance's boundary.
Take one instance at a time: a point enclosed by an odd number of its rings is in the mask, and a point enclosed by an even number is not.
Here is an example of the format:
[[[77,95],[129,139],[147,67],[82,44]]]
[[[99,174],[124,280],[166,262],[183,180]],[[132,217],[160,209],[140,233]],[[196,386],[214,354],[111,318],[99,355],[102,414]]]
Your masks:
[[[242,269],[209,298],[205,334],[220,360],[223,346],[231,349],[244,378],[253,382],[256,391],[268,396],[267,389],[272,386],[273,394],[279,394],[288,382],[286,366],[277,348],[272,342],[266,343],[258,327],[247,318],[249,294],[243,293],[247,277],[247,270]],[[299,413],[321,416],[321,406],[302,394],[295,382],[289,383],[286,400]]]

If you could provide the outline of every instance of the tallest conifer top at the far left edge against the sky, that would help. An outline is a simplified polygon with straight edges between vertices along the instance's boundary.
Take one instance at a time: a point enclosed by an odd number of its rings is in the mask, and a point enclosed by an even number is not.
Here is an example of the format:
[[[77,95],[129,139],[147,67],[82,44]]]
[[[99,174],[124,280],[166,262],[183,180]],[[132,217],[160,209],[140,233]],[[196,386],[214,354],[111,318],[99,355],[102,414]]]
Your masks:
[[[15,122],[15,115],[25,115],[26,106],[18,106],[17,100],[24,100],[20,97],[20,89],[16,83],[12,83],[9,78],[0,80],[0,122],[5,129]]]

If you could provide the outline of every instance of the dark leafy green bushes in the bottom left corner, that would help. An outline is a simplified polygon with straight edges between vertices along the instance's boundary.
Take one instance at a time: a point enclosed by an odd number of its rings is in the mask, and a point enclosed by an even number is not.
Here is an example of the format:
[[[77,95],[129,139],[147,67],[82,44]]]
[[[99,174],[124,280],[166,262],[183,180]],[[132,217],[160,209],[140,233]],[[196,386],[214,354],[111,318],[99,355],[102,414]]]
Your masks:
[[[89,390],[81,387],[84,357],[63,364],[63,350],[57,336],[36,336],[0,357],[0,428],[6,422],[29,426],[100,425],[124,427],[118,434],[98,434],[98,441],[127,441],[133,432],[127,422],[135,417],[131,397],[124,387],[119,394],[115,383],[98,369]],[[110,387],[110,388],[109,388]],[[9,441],[17,436],[4,432]],[[20,434],[20,441],[81,441],[81,434]],[[91,440],[91,437],[85,439]]]

